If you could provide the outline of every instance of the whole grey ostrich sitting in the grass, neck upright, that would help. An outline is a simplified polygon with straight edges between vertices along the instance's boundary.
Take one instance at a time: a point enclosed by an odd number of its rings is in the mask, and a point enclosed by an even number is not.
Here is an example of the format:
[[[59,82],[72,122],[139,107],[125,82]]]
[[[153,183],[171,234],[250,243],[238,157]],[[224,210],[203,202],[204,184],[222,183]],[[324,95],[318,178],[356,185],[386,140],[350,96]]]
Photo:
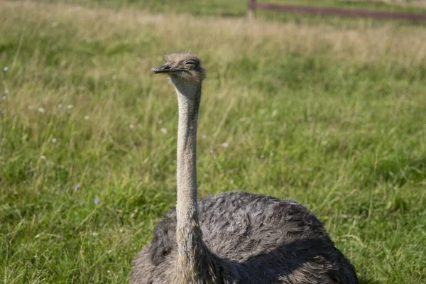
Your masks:
[[[131,284],[358,283],[322,223],[292,200],[226,192],[197,200],[200,59],[173,53],[155,74],[178,94],[178,202],[133,261]]]

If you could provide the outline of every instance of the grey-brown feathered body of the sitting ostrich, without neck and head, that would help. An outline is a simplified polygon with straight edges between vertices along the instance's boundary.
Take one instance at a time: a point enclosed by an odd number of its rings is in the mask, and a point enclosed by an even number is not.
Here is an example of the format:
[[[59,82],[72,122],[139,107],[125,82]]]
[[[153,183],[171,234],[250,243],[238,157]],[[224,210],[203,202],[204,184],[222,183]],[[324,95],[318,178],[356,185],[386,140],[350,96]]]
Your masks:
[[[292,200],[226,192],[199,200],[208,249],[229,266],[226,283],[358,283],[354,267],[336,249],[320,220]],[[176,212],[170,209],[138,253],[132,284],[165,284],[175,278]]]

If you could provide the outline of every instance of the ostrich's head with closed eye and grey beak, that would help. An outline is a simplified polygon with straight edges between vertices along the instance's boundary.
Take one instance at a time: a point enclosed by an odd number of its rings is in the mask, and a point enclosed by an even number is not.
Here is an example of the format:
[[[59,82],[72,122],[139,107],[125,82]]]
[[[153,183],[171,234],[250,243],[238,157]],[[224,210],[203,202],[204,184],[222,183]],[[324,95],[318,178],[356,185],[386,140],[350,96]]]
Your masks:
[[[200,58],[192,53],[172,53],[165,56],[165,63],[158,67],[153,67],[155,74],[165,73],[170,76],[174,84],[177,82],[201,82],[205,75],[201,67]]]

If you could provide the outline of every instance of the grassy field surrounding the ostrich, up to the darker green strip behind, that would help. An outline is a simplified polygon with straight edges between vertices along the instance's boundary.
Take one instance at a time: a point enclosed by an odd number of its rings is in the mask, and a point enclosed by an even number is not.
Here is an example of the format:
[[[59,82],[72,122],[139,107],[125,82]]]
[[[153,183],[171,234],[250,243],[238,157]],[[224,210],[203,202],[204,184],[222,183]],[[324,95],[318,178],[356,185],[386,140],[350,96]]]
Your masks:
[[[3,0],[0,18],[0,283],[126,283],[175,203],[177,102],[150,69],[179,50],[207,69],[200,195],[295,198],[363,283],[426,282],[424,26]]]

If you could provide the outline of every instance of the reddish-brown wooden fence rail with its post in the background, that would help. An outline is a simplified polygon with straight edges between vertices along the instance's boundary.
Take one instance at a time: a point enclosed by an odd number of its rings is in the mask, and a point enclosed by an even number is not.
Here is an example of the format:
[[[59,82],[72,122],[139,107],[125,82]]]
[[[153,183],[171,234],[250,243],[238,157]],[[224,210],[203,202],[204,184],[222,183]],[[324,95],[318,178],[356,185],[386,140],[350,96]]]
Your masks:
[[[310,13],[327,16],[349,16],[349,17],[370,17],[388,18],[393,20],[426,21],[426,13],[373,11],[364,9],[343,9],[334,7],[302,6],[287,4],[258,3],[256,0],[249,0],[249,18],[253,18],[256,10],[283,11],[293,13]]]

